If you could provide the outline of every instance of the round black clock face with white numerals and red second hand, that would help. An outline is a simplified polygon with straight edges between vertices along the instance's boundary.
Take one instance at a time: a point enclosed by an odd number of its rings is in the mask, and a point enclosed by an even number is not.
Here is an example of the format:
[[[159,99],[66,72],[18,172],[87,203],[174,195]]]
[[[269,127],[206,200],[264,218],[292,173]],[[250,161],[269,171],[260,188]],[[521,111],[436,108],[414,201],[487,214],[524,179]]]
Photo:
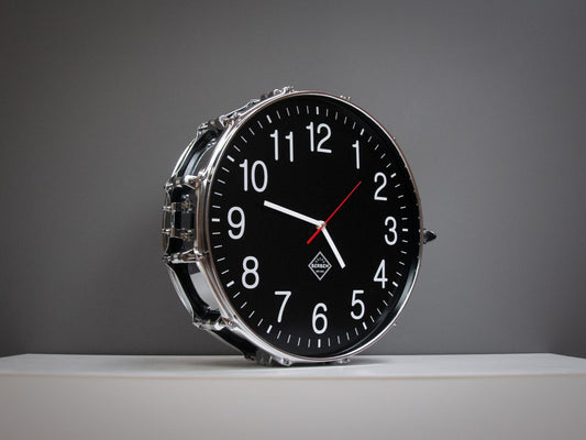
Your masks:
[[[257,338],[295,356],[355,352],[413,283],[420,211],[391,139],[341,99],[294,95],[251,117],[217,163],[210,256]]]

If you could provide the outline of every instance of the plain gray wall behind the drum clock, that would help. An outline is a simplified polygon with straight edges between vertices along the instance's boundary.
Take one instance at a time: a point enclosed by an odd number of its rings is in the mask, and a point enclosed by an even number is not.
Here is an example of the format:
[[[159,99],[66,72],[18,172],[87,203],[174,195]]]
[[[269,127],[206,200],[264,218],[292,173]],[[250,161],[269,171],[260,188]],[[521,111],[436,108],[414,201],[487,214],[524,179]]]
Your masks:
[[[294,85],[387,125],[439,233],[369,353],[586,356],[585,4],[3,2],[0,355],[233,353],[167,279],[162,188]]]

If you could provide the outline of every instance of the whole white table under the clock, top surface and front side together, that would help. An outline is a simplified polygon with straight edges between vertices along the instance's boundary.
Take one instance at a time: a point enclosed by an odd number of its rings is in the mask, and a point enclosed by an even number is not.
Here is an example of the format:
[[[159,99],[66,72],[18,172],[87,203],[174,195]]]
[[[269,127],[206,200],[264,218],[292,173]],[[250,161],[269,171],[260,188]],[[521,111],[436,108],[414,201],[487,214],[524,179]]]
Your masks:
[[[0,439],[579,439],[586,360],[546,353],[0,359]]]

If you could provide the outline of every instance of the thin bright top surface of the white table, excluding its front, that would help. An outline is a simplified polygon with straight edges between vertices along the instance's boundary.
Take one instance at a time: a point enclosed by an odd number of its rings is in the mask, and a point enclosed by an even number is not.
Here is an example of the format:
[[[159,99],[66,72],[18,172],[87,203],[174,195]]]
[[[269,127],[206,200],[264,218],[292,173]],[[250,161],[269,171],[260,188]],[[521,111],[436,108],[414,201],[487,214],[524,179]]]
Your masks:
[[[346,365],[267,367],[242,356],[22,354],[0,375],[174,378],[430,378],[584,375],[586,359],[550,353],[355,356]]]

